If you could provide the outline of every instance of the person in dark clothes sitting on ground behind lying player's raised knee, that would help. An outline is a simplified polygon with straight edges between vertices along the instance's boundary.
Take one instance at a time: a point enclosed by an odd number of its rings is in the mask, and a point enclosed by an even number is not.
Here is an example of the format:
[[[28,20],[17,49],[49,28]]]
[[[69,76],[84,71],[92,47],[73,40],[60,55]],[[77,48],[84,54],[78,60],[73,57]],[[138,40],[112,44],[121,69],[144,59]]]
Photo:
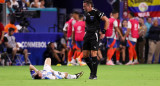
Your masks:
[[[43,57],[44,59],[46,58],[51,58],[52,60],[56,59],[57,61],[53,61],[53,62],[57,62],[57,66],[61,66],[61,63],[63,63],[64,60],[63,58],[60,58],[58,54],[63,54],[63,53],[55,49],[54,43],[51,42],[47,45],[47,49],[43,53]]]

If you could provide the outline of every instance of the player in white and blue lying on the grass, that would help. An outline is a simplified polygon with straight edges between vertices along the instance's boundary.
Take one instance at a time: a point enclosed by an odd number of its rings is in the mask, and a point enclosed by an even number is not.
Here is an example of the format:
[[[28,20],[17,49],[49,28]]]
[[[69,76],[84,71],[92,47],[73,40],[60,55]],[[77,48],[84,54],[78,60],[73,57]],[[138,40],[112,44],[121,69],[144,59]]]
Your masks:
[[[33,65],[30,65],[29,69],[33,79],[78,79],[83,75],[83,72],[71,75],[66,72],[53,70],[50,58],[46,58],[43,70],[39,71]]]

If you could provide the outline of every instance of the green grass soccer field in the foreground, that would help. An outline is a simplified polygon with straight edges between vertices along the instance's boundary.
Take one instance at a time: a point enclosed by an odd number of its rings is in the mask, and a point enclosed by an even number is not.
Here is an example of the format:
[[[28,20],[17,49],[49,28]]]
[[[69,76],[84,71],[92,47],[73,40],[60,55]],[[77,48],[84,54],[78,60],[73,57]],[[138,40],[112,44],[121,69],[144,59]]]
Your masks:
[[[160,65],[100,65],[97,80],[88,79],[87,66],[52,68],[71,74],[84,71],[84,75],[77,80],[32,80],[29,66],[6,66],[0,67],[0,86],[160,86]]]

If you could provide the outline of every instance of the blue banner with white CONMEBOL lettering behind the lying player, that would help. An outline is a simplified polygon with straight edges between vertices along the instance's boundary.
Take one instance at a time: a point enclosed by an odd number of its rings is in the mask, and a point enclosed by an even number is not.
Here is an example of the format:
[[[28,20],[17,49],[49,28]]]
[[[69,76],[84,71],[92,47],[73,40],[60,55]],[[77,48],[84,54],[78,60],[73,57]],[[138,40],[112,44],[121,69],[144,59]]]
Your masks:
[[[31,55],[29,59],[33,65],[43,65],[43,52],[47,44],[55,42],[63,36],[63,33],[16,33],[16,41],[24,49],[28,49]]]

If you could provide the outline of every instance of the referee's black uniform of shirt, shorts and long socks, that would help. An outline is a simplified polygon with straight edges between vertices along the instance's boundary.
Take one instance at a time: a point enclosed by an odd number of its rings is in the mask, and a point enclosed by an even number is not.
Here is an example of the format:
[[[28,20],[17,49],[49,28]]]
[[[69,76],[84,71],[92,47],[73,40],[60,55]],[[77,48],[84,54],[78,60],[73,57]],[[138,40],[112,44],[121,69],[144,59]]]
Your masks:
[[[92,11],[86,12],[84,16],[86,21],[86,34],[84,36],[83,50],[98,51],[100,21],[105,14],[97,9],[92,9]],[[90,79],[93,79],[94,77],[97,78],[97,57],[92,57],[92,60],[85,58],[85,61],[91,70]]]

